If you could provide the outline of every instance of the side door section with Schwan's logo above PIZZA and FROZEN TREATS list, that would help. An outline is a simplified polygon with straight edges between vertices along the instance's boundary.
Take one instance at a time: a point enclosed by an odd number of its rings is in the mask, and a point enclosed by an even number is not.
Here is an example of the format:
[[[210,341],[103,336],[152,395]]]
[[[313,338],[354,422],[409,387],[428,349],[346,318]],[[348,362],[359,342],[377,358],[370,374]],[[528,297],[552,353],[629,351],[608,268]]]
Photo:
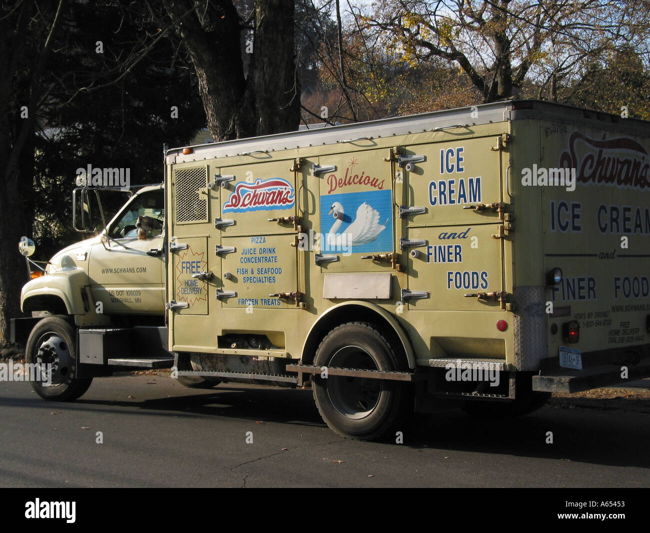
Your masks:
[[[218,216],[229,225],[216,232],[222,276],[211,297],[221,308],[246,308],[240,328],[259,327],[253,308],[299,308],[297,170],[291,159],[220,168],[231,179],[218,192]]]

